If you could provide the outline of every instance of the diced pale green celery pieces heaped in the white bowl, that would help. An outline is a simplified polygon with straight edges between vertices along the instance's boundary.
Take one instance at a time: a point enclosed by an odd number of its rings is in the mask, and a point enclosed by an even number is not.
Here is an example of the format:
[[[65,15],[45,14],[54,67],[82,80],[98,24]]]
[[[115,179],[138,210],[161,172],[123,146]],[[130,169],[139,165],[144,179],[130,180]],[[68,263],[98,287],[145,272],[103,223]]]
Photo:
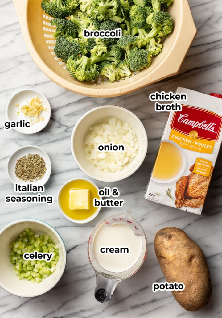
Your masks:
[[[19,279],[26,278],[32,283],[40,283],[56,270],[59,259],[58,247],[49,235],[34,234],[29,228],[25,228],[17,239],[9,245],[10,262]],[[54,256],[50,262],[44,260],[24,260],[25,252],[53,252]]]

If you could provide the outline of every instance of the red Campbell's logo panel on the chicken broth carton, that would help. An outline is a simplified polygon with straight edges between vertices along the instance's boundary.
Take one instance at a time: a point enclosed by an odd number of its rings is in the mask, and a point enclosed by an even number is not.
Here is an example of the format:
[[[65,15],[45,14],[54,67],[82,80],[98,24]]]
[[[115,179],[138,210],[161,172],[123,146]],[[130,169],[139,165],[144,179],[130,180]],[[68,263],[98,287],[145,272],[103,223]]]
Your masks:
[[[222,127],[222,117],[208,110],[182,105],[182,111],[175,112],[170,128],[189,135],[192,129],[198,132],[199,139],[218,141]]]

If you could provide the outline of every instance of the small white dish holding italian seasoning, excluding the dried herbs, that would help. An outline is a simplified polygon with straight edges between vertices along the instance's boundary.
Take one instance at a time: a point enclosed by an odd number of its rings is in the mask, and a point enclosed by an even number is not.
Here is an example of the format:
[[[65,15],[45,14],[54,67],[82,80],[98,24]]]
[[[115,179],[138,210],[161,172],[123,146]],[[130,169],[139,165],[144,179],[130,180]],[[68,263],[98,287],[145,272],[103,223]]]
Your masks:
[[[51,174],[51,161],[50,161],[50,158],[47,155],[47,153],[43,149],[41,149],[37,146],[24,146],[24,147],[17,149],[16,151],[14,151],[11,154],[11,156],[9,157],[9,160],[8,160],[8,164],[7,164],[7,172],[8,172],[8,175],[9,175],[11,182],[18,183],[21,185],[25,185],[27,183],[30,183],[29,181],[25,182],[25,181],[20,180],[15,174],[15,167],[16,167],[17,160],[23,156],[27,156],[28,154],[38,154],[44,159],[44,161],[46,163],[46,172],[45,172],[44,176],[42,177],[41,180],[32,182],[33,185],[44,185],[49,180],[49,177]]]

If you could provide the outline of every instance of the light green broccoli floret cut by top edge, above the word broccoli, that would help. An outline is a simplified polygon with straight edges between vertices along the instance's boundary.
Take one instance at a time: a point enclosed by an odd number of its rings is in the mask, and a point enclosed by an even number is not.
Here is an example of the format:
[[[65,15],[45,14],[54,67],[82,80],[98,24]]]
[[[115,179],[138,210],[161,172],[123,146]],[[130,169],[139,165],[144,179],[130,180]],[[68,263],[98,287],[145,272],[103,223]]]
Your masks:
[[[106,20],[117,15],[119,0],[92,0],[91,17]]]

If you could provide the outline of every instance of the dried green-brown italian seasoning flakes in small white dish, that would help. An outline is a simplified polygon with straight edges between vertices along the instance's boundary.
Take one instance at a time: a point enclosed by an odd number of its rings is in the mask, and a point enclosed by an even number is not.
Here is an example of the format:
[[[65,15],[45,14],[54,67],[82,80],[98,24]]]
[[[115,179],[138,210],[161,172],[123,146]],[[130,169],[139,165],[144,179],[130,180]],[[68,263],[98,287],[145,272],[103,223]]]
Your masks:
[[[15,174],[22,181],[39,181],[45,175],[46,164],[38,154],[28,154],[16,162]]]

